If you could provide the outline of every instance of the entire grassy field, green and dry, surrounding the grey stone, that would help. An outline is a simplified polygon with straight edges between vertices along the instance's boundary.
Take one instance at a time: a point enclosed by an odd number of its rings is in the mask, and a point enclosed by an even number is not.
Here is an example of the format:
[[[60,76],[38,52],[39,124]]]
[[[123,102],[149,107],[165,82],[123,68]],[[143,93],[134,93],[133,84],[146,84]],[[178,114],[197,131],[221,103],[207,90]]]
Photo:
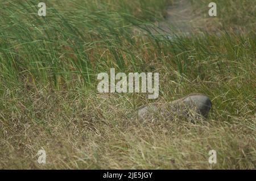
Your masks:
[[[175,39],[156,27],[175,1],[44,2],[40,17],[0,0],[0,169],[256,169],[254,1],[216,0],[214,18],[191,1],[214,31]],[[98,93],[110,68],[158,72],[159,98]],[[207,120],[133,119],[191,92],[212,100]]]

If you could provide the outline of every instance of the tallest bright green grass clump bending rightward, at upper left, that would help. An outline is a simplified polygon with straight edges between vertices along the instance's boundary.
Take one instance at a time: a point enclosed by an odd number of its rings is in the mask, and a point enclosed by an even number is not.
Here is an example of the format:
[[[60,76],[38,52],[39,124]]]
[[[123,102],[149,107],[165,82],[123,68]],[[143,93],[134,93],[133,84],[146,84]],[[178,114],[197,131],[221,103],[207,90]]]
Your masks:
[[[152,2],[146,7],[155,6],[156,2]],[[58,86],[76,76],[83,79],[82,82],[90,83],[104,64],[119,69],[125,69],[125,64],[134,64],[134,54],[129,50],[136,46],[131,22],[139,21],[131,18],[133,12],[126,6],[134,7],[133,3],[46,3],[47,16],[40,17],[33,1],[3,2],[0,22],[3,79],[17,83],[19,78],[25,78],[43,84],[53,82]],[[140,1],[139,5],[144,6],[145,2]]]

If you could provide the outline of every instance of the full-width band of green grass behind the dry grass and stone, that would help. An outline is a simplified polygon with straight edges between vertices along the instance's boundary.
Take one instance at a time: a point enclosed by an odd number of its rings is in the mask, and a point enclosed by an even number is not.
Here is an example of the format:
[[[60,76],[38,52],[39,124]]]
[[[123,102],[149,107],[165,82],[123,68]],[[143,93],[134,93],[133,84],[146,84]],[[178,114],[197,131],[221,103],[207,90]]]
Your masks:
[[[172,32],[158,30],[145,17],[155,1],[147,5],[137,2],[145,7],[141,9],[146,14],[141,14],[143,18],[124,6],[135,7],[127,1],[46,3],[47,16],[40,17],[32,1],[3,2],[2,90],[17,85],[32,90],[42,86],[94,90],[96,75],[110,68],[126,73],[158,71],[163,76],[177,71],[180,82],[212,81],[215,74],[217,78],[244,76],[253,89],[254,31],[244,35],[225,31],[219,36],[171,35],[175,38],[169,39]],[[163,3],[167,1],[161,1],[156,10],[163,9]]]

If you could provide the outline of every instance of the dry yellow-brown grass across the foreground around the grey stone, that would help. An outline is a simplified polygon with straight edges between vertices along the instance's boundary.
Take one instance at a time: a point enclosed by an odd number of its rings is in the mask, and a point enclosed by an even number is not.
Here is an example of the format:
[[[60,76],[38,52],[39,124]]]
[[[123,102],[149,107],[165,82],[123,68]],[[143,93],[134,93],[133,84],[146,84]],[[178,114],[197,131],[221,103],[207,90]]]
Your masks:
[[[208,120],[142,123],[131,116],[140,96],[85,92],[42,89],[16,99],[6,93],[1,169],[255,169],[255,100],[242,103],[224,93],[212,97],[213,105],[241,103],[241,110],[214,106]],[[37,163],[42,148],[45,165]]]

